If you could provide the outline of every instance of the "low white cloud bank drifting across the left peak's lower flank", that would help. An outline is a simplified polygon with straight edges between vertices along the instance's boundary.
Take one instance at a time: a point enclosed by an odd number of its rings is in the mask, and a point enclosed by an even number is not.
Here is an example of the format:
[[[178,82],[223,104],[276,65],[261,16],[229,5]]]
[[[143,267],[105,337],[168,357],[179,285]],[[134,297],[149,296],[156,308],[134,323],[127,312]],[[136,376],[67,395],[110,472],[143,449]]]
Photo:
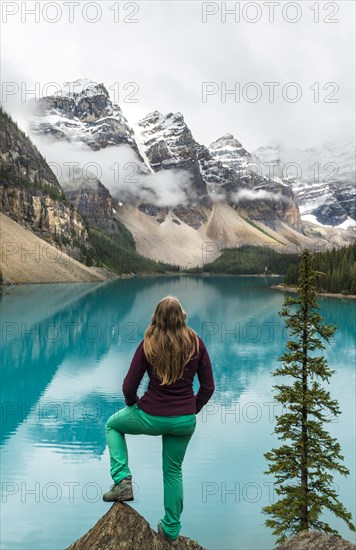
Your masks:
[[[92,151],[83,143],[50,142],[31,134],[64,191],[79,185],[98,187],[98,180],[112,197],[122,202],[139,200],[155,206],[175,207],[191,196],[191,176],[182,170],[151,172],[129,145]]]

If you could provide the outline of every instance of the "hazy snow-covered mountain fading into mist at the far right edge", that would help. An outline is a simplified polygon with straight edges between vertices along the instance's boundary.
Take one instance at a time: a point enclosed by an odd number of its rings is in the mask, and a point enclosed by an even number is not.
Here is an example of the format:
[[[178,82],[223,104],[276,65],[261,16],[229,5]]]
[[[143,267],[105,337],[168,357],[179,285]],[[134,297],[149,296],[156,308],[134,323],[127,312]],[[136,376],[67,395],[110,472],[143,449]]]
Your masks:
[[[274,144],[253,152],[265,175],[293,189],[303,220],[347,227],[356,220],[355,144],[290,151]]]

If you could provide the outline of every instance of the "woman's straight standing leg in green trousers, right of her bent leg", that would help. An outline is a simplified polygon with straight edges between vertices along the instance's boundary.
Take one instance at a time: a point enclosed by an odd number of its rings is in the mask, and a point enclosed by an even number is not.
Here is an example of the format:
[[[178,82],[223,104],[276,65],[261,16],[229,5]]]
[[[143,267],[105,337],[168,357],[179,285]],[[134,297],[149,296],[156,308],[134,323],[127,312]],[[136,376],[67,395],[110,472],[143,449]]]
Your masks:
[[[187,435],[165,434],[162,436],[165,515],[161,524],[171,539],[178,537],[182,527],[180,521],[183,510],[182,463],[193,432],[194,428]]]

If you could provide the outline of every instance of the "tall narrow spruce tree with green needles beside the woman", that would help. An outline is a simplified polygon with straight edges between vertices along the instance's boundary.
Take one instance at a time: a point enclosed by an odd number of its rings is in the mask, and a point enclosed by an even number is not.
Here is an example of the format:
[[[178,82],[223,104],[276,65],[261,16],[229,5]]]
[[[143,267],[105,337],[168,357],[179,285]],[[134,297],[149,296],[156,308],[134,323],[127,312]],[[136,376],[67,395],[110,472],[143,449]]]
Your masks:
[[[329,509],[355,531],[352,515],[338,500],[333,487],[336,471],[348,475],[349,470],[341,464],[340,444],[325,431],[323,424],[331,422],[331,415],[339,415],[338,402],[331,399],[330,393],[315,380],[329,383],[335,372],[327,366],[322,356],[312,356],[316,350],[325,349],[319,337],[329,343],[337,326],[322,323],[322,317],[315,310],[315,279],[321,272],[312,269],[314,255],[303,250],[299,255],[298,293],[296,297],[286,297],[279,312],[285,317],[285,326],[290,329],[290,339],[278,360],[283,366],[272,372],[273,376],[289,376],[290,384],[273,386],[278,390],[275,399],[286,409],[276,417],[274,432],[285,443],[278,449],[264,453],[269,461],[265,474],[276,478],[277,495],[282,498],[263,507],[267,527],[273,529],[281,543],[289,536],[303,530],[324,531],[338,534],[329,524],[320,520],[324,509]],[[292,312],[289,306],[299,306]]]

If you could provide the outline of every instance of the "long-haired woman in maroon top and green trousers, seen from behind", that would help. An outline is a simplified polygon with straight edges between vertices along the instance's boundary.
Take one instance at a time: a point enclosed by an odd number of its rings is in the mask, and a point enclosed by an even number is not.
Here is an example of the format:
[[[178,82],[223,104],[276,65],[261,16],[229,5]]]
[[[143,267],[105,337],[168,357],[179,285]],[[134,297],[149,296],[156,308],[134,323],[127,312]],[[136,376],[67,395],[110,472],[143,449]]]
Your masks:
[[[202,339],[185,324],[186,313],[179,300],[166,296],[156,306],[152,322],[139,344],[124,379],[126,407],[106,423],[112,488],[106,502],[133,500],[124,434],[162,436],[162,466],[165,515],[158,532],[170,542],[181,530],[183,510],[182,463],[196,426],[196,414],[209,401],[215,385],[210,358]],[[136,394],[145,372],[145,394]],[[193,392],[198,375],[200,388]]]

